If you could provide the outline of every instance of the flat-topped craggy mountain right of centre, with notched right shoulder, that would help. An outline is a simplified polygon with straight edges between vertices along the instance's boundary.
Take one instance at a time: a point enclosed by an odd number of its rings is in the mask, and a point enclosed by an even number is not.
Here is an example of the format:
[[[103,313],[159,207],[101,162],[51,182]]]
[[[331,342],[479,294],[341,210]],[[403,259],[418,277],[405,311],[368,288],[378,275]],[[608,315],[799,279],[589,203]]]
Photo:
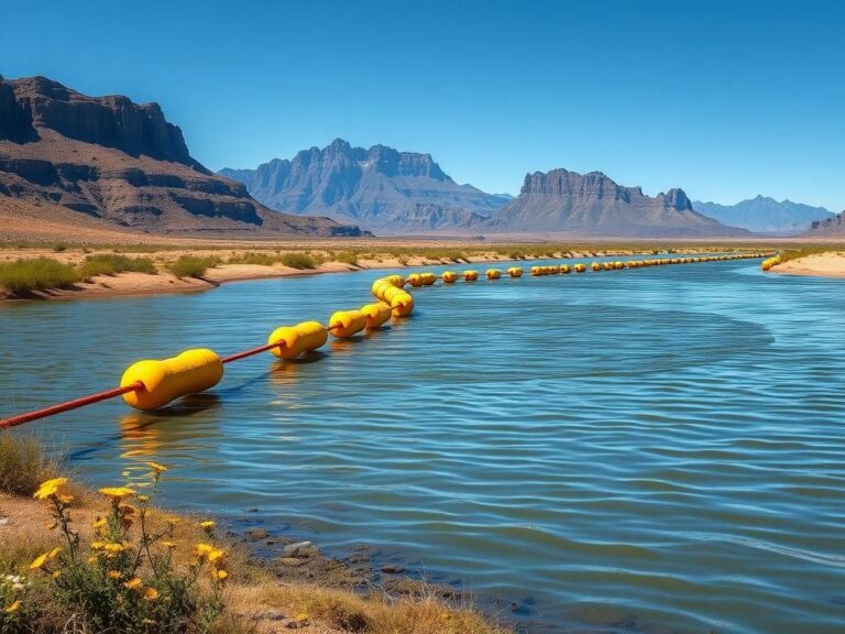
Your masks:
[[[748,236],[693,210],[681,189],[654,198],[601,172],[567,170],[525,176],[519,196],[494,215],[500,231],[566,232],[596,237]]]

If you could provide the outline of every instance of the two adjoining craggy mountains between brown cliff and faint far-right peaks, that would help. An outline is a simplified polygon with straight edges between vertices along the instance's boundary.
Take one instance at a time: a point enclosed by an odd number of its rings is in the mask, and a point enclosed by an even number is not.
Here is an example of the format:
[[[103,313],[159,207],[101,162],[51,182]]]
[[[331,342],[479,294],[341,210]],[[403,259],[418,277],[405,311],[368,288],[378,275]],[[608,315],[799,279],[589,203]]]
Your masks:
[[[649,197],[600,172],[553,170],[526,175],[519,196],[512,199],[459,185],[429,154],[353,147],[341,139],[289,161],[220,174],[240,181],[273,209],[321,214],[376,233],[748,234],[695,212],[680,189]]]

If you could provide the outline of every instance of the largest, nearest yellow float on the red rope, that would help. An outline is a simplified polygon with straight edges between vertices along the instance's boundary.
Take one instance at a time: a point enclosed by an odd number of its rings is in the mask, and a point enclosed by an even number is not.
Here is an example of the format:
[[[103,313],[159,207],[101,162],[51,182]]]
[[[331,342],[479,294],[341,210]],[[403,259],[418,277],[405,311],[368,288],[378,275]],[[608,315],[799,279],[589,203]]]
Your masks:
[[[169,359],[146,359],[133,363],[120,379],[121,387],[141,382],[143,390],[123,394],[135,409],[156,409],[168,403],[213,387],[223,378],[223,364],[206,348],[186,350]]]

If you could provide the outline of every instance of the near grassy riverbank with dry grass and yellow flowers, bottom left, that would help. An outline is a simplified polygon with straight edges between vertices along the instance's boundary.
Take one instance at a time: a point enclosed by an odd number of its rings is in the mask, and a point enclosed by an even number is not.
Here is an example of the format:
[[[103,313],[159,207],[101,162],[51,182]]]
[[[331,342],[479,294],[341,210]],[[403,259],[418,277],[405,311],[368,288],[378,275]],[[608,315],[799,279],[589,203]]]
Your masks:
[[[89,491],[31,436],[0,431],[0,631],[9,634],[505,634],[434,593],[279,581],[208,517],[153,505],[168,468]],[[23,474],[23,476],[22,476]]]

